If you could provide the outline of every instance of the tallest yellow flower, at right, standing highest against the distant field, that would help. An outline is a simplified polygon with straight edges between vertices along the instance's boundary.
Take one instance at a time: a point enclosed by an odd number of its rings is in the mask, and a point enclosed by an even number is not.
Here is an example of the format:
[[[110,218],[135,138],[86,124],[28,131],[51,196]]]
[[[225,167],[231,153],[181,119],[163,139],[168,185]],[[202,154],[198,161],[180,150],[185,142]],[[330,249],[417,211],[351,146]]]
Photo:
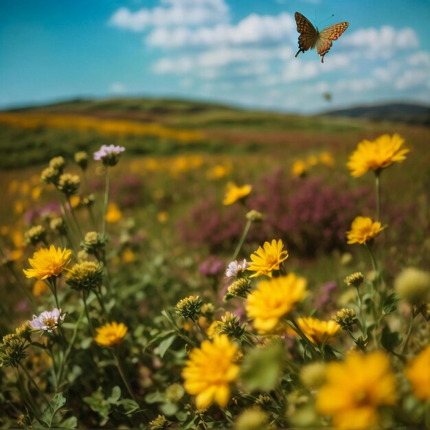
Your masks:
[[[346,166],[351,171],[353,177],[361,177],[367,170],[378,171],[382,168],[390,166],[392,163],[400,163],[406,157],[405,154],[409,149],[400,149],[404,139],[398,134],[390,137],[382,135],[373,142],[363,140],[357,146],[357,149],[352,152]]]

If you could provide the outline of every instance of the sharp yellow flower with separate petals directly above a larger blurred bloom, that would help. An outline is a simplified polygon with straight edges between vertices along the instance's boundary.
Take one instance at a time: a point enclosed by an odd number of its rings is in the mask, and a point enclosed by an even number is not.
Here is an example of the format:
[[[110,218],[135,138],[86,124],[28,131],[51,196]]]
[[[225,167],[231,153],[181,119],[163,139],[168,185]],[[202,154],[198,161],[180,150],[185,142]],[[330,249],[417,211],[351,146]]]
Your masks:
[[[273,270],[279,270],[280,264],[288,258],[288,251],[282,251],[284,244],[282,240],[276,242],[275,239],[271,243],[264,242],[263,247],[258,247],[257,251],[251,254],[252,262],[249,264],[248,270],[256,271],[249,278],[255,276],[267,275],[272,276]]]

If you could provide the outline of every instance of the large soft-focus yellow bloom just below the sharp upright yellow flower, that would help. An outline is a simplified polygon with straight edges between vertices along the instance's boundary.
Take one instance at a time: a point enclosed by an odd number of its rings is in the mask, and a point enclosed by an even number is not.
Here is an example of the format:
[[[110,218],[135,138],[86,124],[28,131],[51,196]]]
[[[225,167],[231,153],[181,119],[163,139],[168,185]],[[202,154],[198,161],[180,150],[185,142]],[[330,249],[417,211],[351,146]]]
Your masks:
[[[302,302],[306,295],[306,284],[306,279],[294,273],[259,282],[249,294],[245,306],[254,327],[259,332],[273,331],[280,319]]]

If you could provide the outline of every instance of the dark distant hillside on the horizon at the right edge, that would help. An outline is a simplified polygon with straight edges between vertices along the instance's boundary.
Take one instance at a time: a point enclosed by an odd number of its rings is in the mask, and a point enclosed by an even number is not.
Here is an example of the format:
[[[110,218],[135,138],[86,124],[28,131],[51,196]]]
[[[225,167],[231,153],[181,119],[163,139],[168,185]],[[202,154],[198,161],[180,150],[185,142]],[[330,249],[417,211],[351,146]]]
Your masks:
[[[430,106],[409,103],[390,103],[357,106],[320,114],[329,117],[348,117],[369,121],[405,122],[430,126]]]

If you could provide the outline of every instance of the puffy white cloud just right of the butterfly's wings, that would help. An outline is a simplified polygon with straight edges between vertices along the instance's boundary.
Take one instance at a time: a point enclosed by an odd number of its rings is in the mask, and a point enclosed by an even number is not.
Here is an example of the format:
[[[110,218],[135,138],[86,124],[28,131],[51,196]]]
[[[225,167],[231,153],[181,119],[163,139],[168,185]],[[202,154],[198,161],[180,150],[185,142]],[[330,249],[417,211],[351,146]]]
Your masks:
[[[374,27],[361,28],[351,34],[345,34],[343,47],[359,49],[367,58],[389,58],[400,49],[418,47],[418,37],[412,28],[396,30],[389,25],[383,25],[379,30]]]

